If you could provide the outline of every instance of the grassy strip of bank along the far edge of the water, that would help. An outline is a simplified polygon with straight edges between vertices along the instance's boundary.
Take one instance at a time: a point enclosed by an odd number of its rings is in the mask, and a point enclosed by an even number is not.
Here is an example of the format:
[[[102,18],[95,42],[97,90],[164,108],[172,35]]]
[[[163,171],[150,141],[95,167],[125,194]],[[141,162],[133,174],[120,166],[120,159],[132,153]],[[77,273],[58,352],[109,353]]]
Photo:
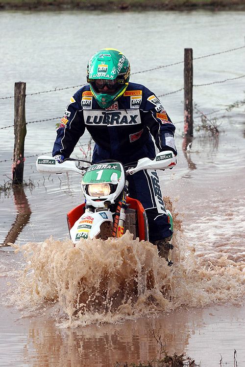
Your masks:
[[[28,10],[245,10],[244,0],[0,0],[0,9]]]

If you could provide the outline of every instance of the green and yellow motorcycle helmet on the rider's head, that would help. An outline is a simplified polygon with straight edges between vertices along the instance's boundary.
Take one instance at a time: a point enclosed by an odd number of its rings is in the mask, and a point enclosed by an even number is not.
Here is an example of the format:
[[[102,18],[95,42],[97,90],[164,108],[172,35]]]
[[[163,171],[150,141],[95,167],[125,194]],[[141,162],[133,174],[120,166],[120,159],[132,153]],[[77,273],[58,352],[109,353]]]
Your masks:
[[[129,75],[128,59],[115,48],[103,48],[91,57],[87,82],[101,108],[110,107],[125,92]]]

